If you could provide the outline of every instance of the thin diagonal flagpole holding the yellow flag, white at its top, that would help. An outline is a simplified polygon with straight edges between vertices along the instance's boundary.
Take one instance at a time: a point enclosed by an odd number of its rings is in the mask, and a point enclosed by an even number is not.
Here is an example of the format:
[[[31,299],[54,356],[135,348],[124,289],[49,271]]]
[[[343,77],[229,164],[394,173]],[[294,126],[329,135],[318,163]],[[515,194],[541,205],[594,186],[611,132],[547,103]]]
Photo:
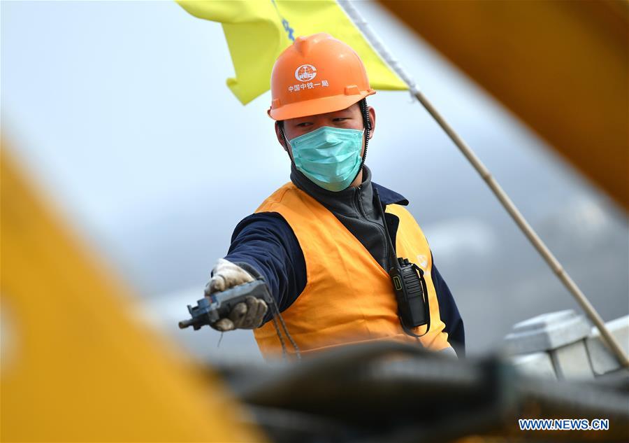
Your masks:
[[[428,101],[426,97],[424,97],[424,94],[419,91],[411,76],[405,71],[405,69],[403,69],[398,59],[391,55],[391,52],[389,52],[389,50],[384,46],[384,43],[382,43],[380,38],[370,27],[370,24],[368,24],[368,22],[366,22],[359,11],[354,8],[352,2],[349,0],[338,0],[338,3],[345,10],[345,13],[347,13],[347,16],[350,18],[350,20],[352,20],[352,22],[356,24],[356,27],[361,30],[365,38],[367,38],[369,43],[373,46],[374,50],[378,52],[382,59],[384,59],[384,61],[389,64],[389,66],[391,66],[391,69],[393,69],[393,71],[396,71],[398,76],[400,76],[400,78],[402,78],[402,80],[404,80],[404,82],[408,85],[412,96],[415,97],[424,106],[424,108],[426,108],[426,111],[428,111],[428,113],[433,116],[433,118],[439,123],[440,127],[442,127],[444,132],[448,134],[450,139],[454,142],[456,147],[461,150],[461,153],[465,155],[465,158],[468,159],[474,169],[476,169],[478,174],[487,183],[493,194],[496,195],[496,198],[498,198],[505,210],[509,213],[509,216],[513,218],[516,225],[519,226],[520,230],[523,232],[526,238],[530,241],[531,244],[533,244],[537,252],[542,255],[542,258],[544,258],[544,260],[548,263],[549,267],[553,270],[558,279],[561,280],[563,286],[565,286],[565,288],[570,291],[570,293],[574,297],[574,300],[577,300],[577,303],[579,303],[579,305],[585,311],[586,315],[590,318],[592,323],[596,325],[596,327],[600,331],[601,337],[603,338],[603,342],[605,342],[607,346],[609,346],[609,349],[611,349],[612,352],[616,355],[616,358],[618,358],[621,365],[623,365],[624,367],[629,367],[629,358],[627,358],[627,356],[625,355],[625,352],[623,351],[621,345],[616,340],[616,338],[612,335],[611,332],[609,332],[609,329],[607,329],[607,325],[605,325],[605,322],[602,320],[596,309],[594,309],[590,301],[587,299],[581,289],[579,289],[577,283],[574,283],[574,280],[572,280],[570,275],[568,275],[565,269],[563,269],[561,263],[555,258],[553,253],[551,253],[546,244],[544,244],[544,241],[540,239],[540,237],[537,235],[537,232],[535,232],[535,230],[533,230],[533,227],[528,224],[524,216],[522,216],[522,214],[509,198],[507,193],[498,184],[498,181],[493,178],[493,176],[489,172],[489,169],[485,167],[483,162],[481,162],[479,157],[477,157],[472,148],[470,148],[468,144],[465,143],[465,141],[463,141],[460,136],[458,136],[458,134],[454,131],[454,129],[452,129],[452,127],[442,117],[437,109],[435,109],[431,102]]]

